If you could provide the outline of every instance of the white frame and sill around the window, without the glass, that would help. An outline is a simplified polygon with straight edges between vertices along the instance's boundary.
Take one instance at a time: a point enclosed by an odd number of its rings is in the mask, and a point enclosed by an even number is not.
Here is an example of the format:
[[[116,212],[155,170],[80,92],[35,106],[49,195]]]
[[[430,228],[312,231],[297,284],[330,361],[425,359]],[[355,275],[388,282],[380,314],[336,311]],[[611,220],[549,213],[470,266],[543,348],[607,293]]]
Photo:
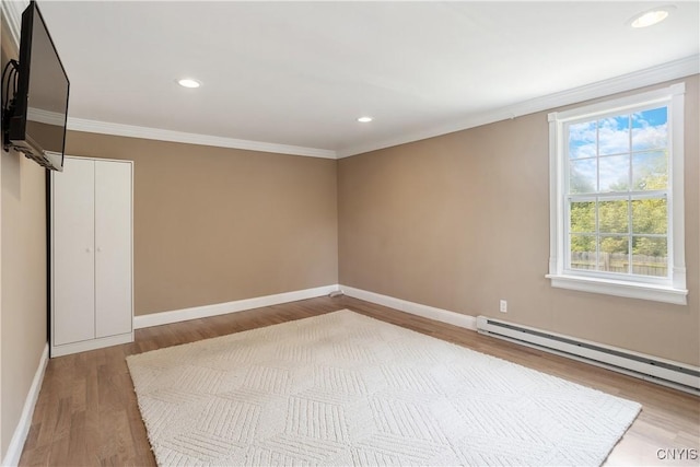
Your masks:
[[[684,96],[685,83],[649,91],[641,94],[600,102],[564,112],[553,112],[549,119],[549,195],[550,195],[550,234],[549,234],[549,273],[546,276],[556,288],[657,302],[687,305],[686,254],[684,222]],[[591,275],[568,268],[568,229],[567,229],[567,144],[564,125],[584,118],[595,119],[614,113],[645,105],[665,105],[668,107],[668,278],[644,278],[629,275],[606,277]],[[622,276],[622,277],[621,277]]]

